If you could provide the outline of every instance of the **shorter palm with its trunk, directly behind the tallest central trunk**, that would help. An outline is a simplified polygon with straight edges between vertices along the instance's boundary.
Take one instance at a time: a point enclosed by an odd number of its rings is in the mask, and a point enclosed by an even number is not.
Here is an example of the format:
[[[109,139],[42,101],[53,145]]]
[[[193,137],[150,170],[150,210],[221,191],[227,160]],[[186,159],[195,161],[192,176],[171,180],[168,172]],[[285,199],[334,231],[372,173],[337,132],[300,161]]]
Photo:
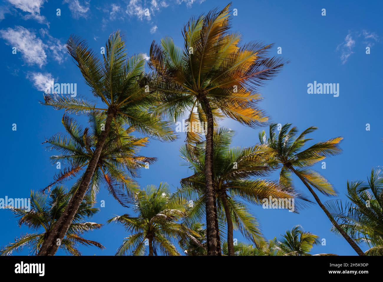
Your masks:
[[[253,204],[262,204],[269,197],[293,199],[302,198],[299,193],[276,181],[251,179],[264,177],[272,171],[265,163],[273,156],[273,150],[265,145],[250,148],[230,148],[234,132],[220,128],[214,132],[214,177],[213,185],[218,200],[218,213],[223,213],[227,223],[228,254],[234,256],[233,230],[239,229],[247,239],[254,241],[262,238],[257,221],[250,215],[241,198]],[[206,143],[197,144],[191,150],[181,148],[181,156],[194,172],[190,177],[181,180],[182,188],[178,193],[183,197],[196,197],[196,204],[189,214],[194,221],[201,221],[205,193],[205,148]],[[296,209],[300,205],[297,203]],[[287,207],[286,207],[287,208]]]

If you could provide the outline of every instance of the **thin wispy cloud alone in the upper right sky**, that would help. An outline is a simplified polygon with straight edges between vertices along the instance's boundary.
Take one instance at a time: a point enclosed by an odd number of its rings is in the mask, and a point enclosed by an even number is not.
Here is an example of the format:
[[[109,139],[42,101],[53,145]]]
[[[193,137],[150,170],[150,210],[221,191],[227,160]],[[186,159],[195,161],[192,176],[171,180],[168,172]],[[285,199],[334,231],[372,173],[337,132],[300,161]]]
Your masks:
[[[362,30],[361,32],[349,31],[344,41],[336,48],[336,51],[340,52],[340,61],[342,61],[342,64],[345,64],[349,57],[354,54],[354,47],[360,42],[360,39],[362,39],[363,44],[367,44],[369,47],[372,47],[379,41],[379,37],[376,33],[371,33],[367,30]]]

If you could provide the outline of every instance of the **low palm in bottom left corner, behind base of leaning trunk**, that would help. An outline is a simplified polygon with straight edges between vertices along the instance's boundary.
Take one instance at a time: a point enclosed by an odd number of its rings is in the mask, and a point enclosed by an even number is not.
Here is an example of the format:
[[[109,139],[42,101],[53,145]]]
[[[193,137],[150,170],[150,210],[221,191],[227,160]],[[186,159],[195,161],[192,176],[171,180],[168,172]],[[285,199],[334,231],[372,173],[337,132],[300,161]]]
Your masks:
[[[16,238],[14,243],[4,246],[0,250],[0,254],[8,256],[13,251],[20,251],[25,247],[30,249],[30,254],[37,254],[47,235],[52,231],[57,220],[67,207],[71,197],[72,194],[65,193],[65,189],[61,186],[52,189],[49,198],[40,192],[31,191],[31,209],[27,211],[12,208],[12,211],[19,218],[19,226],[25,225],[37,232],[22,234],[20,238]],[[98,211],[98,208],[92,207],[90,198],[85,197],[68,232],[65,234],[65,238],[61,241],[60,248],[74,256],[81,255],[77,245],[96,246],[99,249],[105,249],[100,243],[81,236],[85,232],[101,228],[102,224],[83,222],[85,218],[93,216]]]

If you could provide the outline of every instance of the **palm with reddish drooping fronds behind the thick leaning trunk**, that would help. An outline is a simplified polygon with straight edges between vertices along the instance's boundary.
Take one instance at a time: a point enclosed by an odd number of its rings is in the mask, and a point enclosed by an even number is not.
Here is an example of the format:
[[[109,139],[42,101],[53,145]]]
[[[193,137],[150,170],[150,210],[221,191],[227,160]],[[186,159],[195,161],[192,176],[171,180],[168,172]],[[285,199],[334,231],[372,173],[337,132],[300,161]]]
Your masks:
[[[67,167],[54,177],[53,185],[61,183],[78,175],[83,167],[86,167],[93,157],[95,147],[101,134],[101,123],[104,120],[103,113],[89,113],[90,127],[83,129],[73,118],[68,115],[62,117],[62,124],[69,136],[56,134],[44,143],[49,144],[49,149],[55,149],[61,154],[51,156],[54,164],[62,162]],[[109,192],[118,202],[127,206],[129,196],[138,191],[138,184],[131,178],[139,176],[138,169],[152,164],[156,158],[137,155],[141,147],[149,142],[147,137],[135,138],[131,135],[133,128],[125,130],[116,121],[112,121],[111,130],[98,159],[98,164],[90,182],[90,194],[95,202],[96,194],[102,184],[105,184]],[[127,173],[128,171],[129,173]],[[72,193],[79,188],[84,174],[79,177],[72,188]]]

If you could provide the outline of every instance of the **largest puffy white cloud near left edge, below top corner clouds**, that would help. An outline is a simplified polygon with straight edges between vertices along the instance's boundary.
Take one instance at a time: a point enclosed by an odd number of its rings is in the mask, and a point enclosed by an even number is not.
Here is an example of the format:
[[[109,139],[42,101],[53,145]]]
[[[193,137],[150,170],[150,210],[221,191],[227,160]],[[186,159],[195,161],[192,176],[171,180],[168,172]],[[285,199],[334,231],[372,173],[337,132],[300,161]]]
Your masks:
[[[16,47],[17,51],[21,52],[28,64],[36,64],[39,67],[46,64],[47,56],[44,51],[46,45],[33,32],[22,26],[15,26],[14,29],[0,30],[0,35],[8,41],[8,45]]]

